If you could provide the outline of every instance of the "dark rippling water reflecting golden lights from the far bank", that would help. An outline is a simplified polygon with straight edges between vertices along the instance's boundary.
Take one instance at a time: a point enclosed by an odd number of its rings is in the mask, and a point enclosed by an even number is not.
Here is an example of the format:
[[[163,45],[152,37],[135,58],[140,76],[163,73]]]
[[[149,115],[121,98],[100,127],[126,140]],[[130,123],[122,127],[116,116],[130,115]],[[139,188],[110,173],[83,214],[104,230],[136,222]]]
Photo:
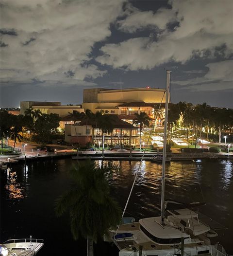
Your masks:
[[[111,194],[124,207],[139,162],[117,162],[120,172],[109,180]],[[85,255],[85,240],[74,241],[68,215],[57,218],[54,200],[70,186],[71,159],[38,161],[12,165],[1,173],[1,242],[9,238],[43,238],[43,255]],[[159,215],[162,165],[143,162],[125,216],[136,218]],[[227,161],[172,162],[166,167],[166,199],[206,201],[200,212],[227,229],[219,241],[233,254],[233,163]],[[102,241],[95,255],[117,255],[115,246]]]

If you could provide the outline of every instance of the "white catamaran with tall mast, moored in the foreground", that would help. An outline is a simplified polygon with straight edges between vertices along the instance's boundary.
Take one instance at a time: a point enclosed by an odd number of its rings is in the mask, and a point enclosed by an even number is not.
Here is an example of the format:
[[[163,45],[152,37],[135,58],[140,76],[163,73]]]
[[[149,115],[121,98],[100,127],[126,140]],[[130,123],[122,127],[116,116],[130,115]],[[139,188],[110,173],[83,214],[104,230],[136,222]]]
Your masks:
[[[164,142],[168,113],[170,71],[167,70]],[[203,203],[185,204],[165,201],[166,143],[163,148],[161,216],[139,219],[138,222],[120,224],[110,230],[105,241],[113,241],[119,256],[226,256],[219,244],[211,244],[217,233],[199,220],[195,208]],[[132,192],[132,191],[131,191]]]

